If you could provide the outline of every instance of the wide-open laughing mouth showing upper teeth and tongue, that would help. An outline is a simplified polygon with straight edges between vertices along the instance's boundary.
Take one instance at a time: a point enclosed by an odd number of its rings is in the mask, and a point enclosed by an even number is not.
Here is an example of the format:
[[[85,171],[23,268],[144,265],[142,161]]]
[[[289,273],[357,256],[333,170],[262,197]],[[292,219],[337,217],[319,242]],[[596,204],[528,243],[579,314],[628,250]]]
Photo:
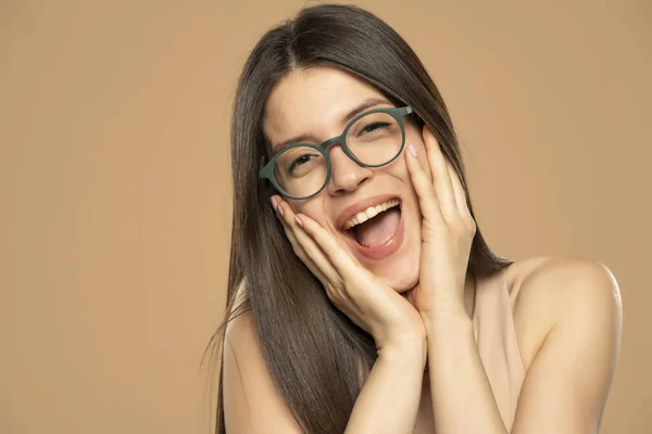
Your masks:
[[[360,247],[378,248],[388,244],[401,224],[401,201],[390,199],[358,213],[343,226],[344,235]]]

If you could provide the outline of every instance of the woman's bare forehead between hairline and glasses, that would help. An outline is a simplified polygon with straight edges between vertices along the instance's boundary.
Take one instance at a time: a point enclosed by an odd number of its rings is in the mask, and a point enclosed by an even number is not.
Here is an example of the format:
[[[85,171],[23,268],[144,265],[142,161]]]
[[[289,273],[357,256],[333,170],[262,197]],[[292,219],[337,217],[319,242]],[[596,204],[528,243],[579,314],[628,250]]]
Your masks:
[[[272,143],[294,136],[337,135],[342,117],[369,98],[373,86],[333,67],[293,71],[276,85],[265,105],[263,131]]]

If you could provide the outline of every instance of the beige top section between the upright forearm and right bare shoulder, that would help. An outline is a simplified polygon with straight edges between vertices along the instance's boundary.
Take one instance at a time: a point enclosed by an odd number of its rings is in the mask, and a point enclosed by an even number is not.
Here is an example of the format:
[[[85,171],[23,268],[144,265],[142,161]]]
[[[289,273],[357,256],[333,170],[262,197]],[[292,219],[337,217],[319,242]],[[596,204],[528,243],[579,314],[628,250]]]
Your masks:
[[[473,329],[480,359],[507,431],[514,424],[525,366],[518,350],[505,269],[478,280]]]

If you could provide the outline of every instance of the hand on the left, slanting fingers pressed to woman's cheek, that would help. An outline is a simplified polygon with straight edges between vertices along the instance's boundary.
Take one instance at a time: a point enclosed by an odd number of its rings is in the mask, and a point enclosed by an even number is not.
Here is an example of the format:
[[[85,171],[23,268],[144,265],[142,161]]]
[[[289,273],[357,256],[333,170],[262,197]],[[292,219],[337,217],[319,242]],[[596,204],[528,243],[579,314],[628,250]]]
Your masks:
[[[273,196],[272,205],[297,256],[322,282],[333,304],[374,337],[379,352],[425,343],[423,320],[405,297],[360,265],[316,221],[296,216],[280,196]]]

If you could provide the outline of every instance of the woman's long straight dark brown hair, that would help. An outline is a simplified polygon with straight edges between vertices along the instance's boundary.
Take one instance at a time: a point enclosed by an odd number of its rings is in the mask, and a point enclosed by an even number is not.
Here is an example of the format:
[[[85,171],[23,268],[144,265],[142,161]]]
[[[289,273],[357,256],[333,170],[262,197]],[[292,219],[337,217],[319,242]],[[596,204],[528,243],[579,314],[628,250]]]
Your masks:
[[[303,9],[267,31],[251,52],[238,82],[231,119],[234,210],[227,316],[210,345],[222,348],[226,324],[250,310],[269,374],[305,433],[342,433],[360,393],[359,368],[371,369],[376,347],[328,301],[319,281],[299,260],[269,205],[271,186],[259,179],[266,156],[265,102],[288,73],[316,65],[338,67],[377,88],[396,105],[411,105],[437,137],[468,196],[453,125],[437,87],[410,46],[386,23],[356,7]],[[468,203],[473,215],[473,207]],[[481,277],[511,261],[494,255],[479,228],[468,272]],[[234,314],[237,288],[247,303]],[[222,362],[220,366],[222,384]],[[224,434],[222,387],[216,433]]]

